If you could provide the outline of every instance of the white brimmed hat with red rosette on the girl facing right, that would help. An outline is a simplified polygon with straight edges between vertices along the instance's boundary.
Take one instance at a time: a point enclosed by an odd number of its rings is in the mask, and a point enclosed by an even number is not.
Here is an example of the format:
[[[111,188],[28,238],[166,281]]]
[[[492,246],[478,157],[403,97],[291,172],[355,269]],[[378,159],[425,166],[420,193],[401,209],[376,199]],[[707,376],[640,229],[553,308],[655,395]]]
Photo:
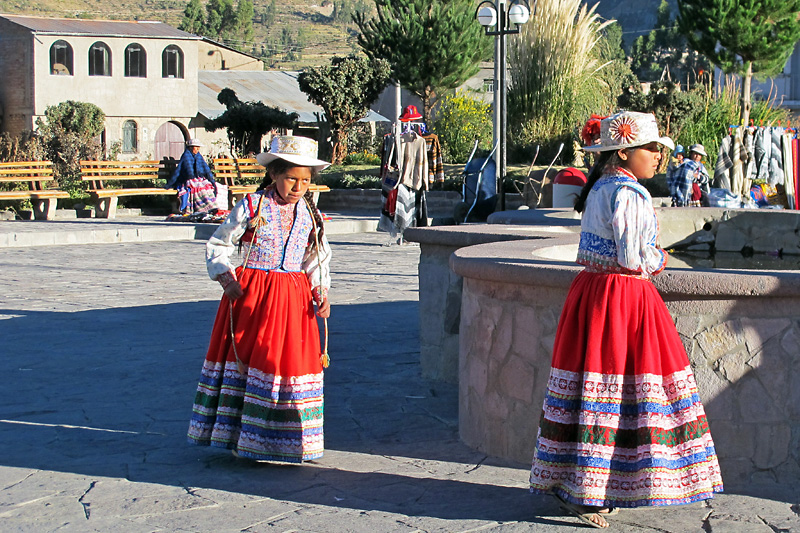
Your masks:
[[[600,122],[600,143],[585,146],[587,152],[608,152],[623,148],[636,148],[657,142],[669,148],[675,143],[669,137],[658,134],[656,117],[652,113],[621,111]]]

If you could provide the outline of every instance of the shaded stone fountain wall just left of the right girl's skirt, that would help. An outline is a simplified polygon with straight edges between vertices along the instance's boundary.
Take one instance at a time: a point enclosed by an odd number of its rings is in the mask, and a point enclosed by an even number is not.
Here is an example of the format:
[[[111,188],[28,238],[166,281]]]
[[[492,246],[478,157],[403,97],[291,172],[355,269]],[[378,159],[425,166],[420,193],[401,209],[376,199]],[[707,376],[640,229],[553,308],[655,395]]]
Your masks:
[[[563,289],[464,280],[459,432],[469,446],[530,462]]]

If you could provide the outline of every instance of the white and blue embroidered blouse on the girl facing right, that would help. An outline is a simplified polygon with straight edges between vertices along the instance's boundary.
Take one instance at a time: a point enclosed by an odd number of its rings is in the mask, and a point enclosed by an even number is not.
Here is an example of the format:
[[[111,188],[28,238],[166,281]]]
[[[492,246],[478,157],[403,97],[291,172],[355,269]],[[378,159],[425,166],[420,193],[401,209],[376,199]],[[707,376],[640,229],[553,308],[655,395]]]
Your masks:
[[[577,262],[595,272],[649,278],[667,264],[657,245],[650,193],[622,169],[601,177],[586,198]]]

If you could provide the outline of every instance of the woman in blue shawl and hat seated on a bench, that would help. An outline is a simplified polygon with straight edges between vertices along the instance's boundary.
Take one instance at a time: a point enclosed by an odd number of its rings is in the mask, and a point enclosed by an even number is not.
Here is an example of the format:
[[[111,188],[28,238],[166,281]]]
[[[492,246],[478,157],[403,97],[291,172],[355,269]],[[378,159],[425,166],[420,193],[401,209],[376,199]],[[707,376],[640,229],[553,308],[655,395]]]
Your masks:
[[[201,146],[197,139],[186,141],[186,150],[166,185],[167,189],[177,189],[179,211],[184,215],[217,209],[217,182],[200,154]]]

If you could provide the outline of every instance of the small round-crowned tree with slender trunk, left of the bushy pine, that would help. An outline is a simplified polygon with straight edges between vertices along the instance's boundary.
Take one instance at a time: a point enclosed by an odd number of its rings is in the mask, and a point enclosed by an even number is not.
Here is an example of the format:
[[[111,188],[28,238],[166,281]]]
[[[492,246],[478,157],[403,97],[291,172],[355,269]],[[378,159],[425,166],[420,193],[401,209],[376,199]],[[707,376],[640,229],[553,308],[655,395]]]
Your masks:
[[[325,110],[333,144],[332,160],[341,163],[347,155],[347,134],[367,116],[389,80],[388,62],[364,56],[334,57],[329,66],[309,68],[298,76],[300,90]]]

